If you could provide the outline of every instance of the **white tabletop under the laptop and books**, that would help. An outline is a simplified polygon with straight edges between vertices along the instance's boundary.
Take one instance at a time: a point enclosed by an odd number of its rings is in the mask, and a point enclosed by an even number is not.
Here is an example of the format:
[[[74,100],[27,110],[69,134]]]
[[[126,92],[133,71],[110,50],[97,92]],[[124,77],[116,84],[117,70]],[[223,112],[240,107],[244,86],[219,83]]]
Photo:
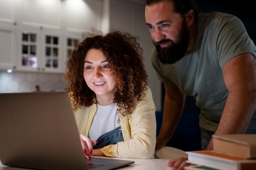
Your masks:
[[[129,166],[126,166],[124,168],[119,168],[118,170],[171,170],[171,167],[168,167],[166,164],[166,161],[168,161],[168,159],[128,159],[128,158],[109,158],[109,159],[123,159],[123,160],[135,161],[135,163]],[[31,169],[6,167],[6,166],[3,166],[2,163],[0,163],[0,170],[31,170]]]

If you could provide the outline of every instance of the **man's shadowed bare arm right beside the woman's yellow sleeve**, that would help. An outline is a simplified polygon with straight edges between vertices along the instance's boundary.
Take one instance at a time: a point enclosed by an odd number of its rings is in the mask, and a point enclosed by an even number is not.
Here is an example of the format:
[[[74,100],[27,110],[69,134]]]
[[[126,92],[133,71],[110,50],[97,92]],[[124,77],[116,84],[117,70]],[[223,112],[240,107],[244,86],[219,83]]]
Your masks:
[[[163,121],[159,136],[157,137],[156,150],[165,146],[171,139],[180,120],[186,97],[175,84],[164,84],[164,88]]]

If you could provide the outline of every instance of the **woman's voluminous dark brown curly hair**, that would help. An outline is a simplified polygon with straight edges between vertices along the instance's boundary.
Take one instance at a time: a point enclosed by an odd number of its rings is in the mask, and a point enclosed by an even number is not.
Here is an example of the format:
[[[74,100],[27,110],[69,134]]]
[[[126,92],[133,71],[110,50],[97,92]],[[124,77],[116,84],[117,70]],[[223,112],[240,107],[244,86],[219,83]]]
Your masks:
[[[117,80],[112,103],[117,103],[120,114],[132,113],[135,100],[141,100],[141,95],[148,84],[148,75],[143,63],[145,59],[139,43],[132,35],[121,31],[103,35],[101,31],[92,29],[85,33],[84,37],[69,56],[65,75],[65,87],[71,92],[74,110],[94,103],[96,95],[85,83],[83,66],[88,50],[100,49]]]

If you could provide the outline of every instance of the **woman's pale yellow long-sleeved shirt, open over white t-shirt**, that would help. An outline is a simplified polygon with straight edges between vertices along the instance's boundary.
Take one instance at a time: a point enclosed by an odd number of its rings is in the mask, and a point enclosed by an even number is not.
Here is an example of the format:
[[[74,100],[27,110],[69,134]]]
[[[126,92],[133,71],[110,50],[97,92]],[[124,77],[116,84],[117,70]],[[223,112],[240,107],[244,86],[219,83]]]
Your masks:
[[[147,86],[148,87],[148,86]],[[141,101],[136,100],[132,114],[120,117],[120,125],[124,141],[111,144],[101,149],[106,157],[120,158],[154,158],[156,144],[155,104],[150,88]],[[78,109],[74,112],[79,134],[88,136],[97,104]],[[107,122],[106,122],[107,124]]]

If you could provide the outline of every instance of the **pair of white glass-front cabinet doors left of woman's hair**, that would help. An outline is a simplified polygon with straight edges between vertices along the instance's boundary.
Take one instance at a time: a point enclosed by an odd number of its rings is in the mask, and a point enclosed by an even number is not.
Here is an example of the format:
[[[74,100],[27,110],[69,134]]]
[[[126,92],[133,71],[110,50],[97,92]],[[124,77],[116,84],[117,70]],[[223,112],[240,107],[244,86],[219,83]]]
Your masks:
[[[64,73],[61,35],[54,31],[18,29],[17,70]]]

